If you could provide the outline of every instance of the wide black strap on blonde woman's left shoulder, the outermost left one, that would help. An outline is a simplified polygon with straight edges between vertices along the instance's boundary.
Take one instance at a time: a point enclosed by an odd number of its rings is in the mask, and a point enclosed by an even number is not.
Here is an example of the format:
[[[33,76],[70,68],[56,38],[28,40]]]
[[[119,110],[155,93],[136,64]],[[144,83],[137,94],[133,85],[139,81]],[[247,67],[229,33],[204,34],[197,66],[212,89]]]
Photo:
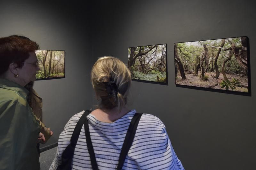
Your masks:
[[[84,114],[81,116],[81,118],[78,120],[76,123],[76,127],[73,131],[73,134],[70,139],[70,144],[67,146],[67,148],[62,152],[61,156],[61,165],[58,166],[57,170],[62,170],[62,169],[71,169],[71,163],[72,163],[72,158],[74,155],[76,143],[79,137],[79,134],[81,132],[81,129],[83,127],[84,121],[87,120],[86,116],[90,114],[91,111],[86,110]]]

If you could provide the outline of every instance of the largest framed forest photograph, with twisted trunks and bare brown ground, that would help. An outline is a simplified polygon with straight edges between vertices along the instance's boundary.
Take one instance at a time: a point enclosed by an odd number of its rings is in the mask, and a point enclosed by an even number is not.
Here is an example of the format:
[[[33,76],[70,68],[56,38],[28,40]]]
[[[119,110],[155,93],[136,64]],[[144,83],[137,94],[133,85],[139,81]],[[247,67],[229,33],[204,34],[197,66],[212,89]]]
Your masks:
[[[174,43],[178,87],[251,95],[249,38]]]

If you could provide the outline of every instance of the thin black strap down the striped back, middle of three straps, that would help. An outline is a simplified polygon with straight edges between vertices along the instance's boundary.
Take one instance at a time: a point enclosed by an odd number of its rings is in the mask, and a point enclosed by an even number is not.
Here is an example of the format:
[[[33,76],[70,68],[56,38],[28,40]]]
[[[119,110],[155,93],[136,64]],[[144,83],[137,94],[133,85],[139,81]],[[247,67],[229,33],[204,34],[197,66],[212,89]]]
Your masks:
[[[88,124],[87,119],[84,121],[84,131],[85,131],[87,149],[89,151],[89,155],[90,155],[90,159],[91,159],[92,170],[98,170],[98,165],[97,165],[95,154],[93,151],[92,140],[91,140],[91,136],[90,136],[89,124]]]

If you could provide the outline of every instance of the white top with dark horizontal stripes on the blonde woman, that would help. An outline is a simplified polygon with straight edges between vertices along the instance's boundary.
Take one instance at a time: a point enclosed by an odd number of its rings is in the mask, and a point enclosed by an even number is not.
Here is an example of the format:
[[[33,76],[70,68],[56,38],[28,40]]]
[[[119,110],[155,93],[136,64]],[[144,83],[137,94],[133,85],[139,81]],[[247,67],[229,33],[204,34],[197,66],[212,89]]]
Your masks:
[[[57,169],[62,152],[70,143],[77,121],[84,111],[75,114],[60,134],[58,149],[50,169]],[[135,110],[113,123],[98,121],[92,114],[87,116],[99,169],[116,169],[127,129]],[[84,126],[76,143],[72,159],[72,169],[92,169],[86,146]],[[125,158],[123,169],[184,169],[174,152],[163,122],[151,114],[140,118],[132,146]]]

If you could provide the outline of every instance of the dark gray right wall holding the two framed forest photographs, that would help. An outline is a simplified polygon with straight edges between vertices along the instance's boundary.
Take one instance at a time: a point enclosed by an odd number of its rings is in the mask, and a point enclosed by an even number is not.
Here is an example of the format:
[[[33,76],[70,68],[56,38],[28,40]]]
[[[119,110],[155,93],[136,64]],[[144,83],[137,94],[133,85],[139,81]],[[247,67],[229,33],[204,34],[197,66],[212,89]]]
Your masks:
[[[255,169],[255,7],[251,0],[95,4],[94,61],[111,55],[127,63],[128,47],[167,43],[168,86],[133,81],[130,107],[163,120],[186,169]],[[252,97],[175,86],[173,43],[244,35]]]

